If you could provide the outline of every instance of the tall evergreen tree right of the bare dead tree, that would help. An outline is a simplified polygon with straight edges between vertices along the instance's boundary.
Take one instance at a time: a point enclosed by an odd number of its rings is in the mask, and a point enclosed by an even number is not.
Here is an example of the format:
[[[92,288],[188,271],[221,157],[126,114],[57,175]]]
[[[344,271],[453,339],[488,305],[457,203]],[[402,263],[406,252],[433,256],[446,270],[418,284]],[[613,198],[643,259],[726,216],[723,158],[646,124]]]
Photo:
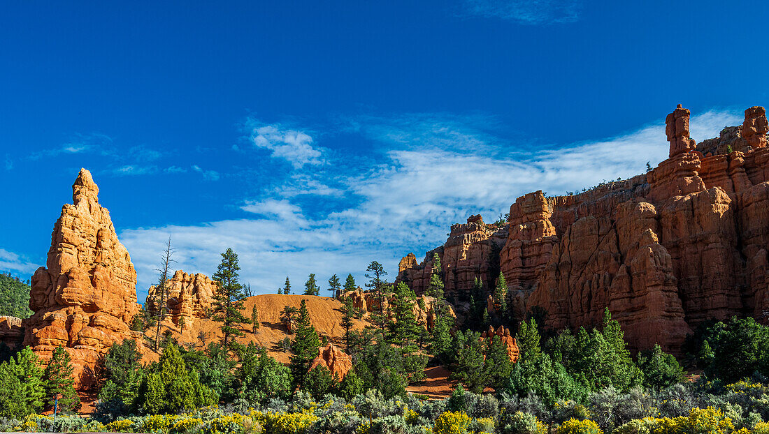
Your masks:
[[[241,310],[245,300],[243,285],[238,283],[238,254],[231,248],[221,253],[221,263],[212,279],[217,283],[214,293],[214,316],[212,320],[221,323],[221,332],[224,333],[222,346],[228,348],[231,339],[243,336],[240,330],[241,324],[248,323]]]

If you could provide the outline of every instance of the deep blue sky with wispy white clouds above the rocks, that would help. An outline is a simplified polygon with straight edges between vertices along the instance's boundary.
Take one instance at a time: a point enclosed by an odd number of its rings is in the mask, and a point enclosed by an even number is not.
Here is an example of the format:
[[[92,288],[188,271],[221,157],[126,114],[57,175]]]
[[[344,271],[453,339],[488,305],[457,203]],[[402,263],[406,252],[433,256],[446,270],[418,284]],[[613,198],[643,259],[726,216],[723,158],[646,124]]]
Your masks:
[[[221,2],[219,2],[221,3]],[[80,167],[138,271],[171,235],[257,293],[362,279],[516,197],[667,157],[769,104],[757,2],[8,2],[0,270],[28,277]]]

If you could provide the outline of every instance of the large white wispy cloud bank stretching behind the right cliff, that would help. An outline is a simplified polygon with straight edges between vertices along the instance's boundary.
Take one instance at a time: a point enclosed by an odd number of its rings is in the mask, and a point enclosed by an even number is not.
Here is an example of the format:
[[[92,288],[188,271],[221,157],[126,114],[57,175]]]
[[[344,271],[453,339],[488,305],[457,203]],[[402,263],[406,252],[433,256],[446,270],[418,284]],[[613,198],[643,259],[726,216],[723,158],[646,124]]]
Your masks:
[[[421,255],[441,244],[450,225],[471,214],[495,220],[517,197],[533,190],[564,194],[604,179],[640,174],[647,161],[656,165],[668,151],[659,122],[616,137],[524,153],[490,129],[463,124],[456,116],[405,118],[348,122],[355,128],[344,127],[346,132],[377,142],[381,154],[362,160],[366,166],[356,171],[297,169],[287,175],[285,187],[239,204],[246,213],[241,219],[123,231],[121,240],[139,273],[140,293],[155,280],[156,258],[168,234],[178,252],[178,267],[188,272],[210,275],[219,253],[233,247],[240,253],[241,277],[256,292],[274,291],[286,274],[295,286],[308,273],[318,273],[320,279],[353,273],[362,279],[371,260],[394,273],[400,257],[410,251]],[[724,125],[740,121],[730,111],[700,114],[691,119],[692,137],[716,137]],[[338,159],[329,165],[348,160],[345,155]],[[307,187],[304,194],[302,187]],[[309,205],[300,199],[308,195],[321,202],[330,197],[355,200],[318,215],[303,209]]]

